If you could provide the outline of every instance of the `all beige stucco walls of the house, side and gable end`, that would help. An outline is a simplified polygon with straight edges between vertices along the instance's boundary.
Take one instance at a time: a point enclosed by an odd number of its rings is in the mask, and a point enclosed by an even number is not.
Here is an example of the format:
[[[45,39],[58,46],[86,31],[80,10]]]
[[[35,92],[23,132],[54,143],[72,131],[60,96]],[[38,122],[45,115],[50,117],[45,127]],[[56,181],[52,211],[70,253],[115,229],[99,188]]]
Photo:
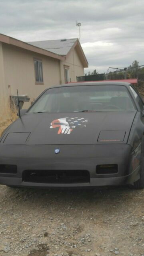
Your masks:
[[[76,76],[84,75],[84,68],[76,49],[73,49],[65,62],[23,50],[9,44],[0,44],[0,93],[6,95],[27,94],[30,102],[25,102],[23,108],[28,108],[31,102],[46,88],[64,84],[64,65],[69,66],[69,76],[76,82]],[[42,60],[44,84],[36,84],[34,71],[34,58]],[[3,90],[5,92],[3,92]]]

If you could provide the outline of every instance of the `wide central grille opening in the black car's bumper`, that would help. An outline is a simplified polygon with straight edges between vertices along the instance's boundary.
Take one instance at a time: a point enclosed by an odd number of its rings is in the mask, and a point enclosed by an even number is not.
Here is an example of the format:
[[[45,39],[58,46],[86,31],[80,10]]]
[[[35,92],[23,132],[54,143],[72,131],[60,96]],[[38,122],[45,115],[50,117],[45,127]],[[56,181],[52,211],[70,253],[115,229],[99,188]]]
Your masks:
[[[37,183],[85,183],[90,182],[90,174],[87,170],[25,170],[22,180]]]

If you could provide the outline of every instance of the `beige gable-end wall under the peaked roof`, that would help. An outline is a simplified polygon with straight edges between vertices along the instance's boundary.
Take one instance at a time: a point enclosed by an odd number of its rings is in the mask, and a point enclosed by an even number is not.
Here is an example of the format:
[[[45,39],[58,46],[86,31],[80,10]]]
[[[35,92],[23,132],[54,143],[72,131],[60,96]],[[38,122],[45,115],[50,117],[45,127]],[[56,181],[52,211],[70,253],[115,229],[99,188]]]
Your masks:
[[[76,76],[84,76],[84,67],[78,57],[78,53],[75,48],[70,52],[65,62],[60,62],[62,84],[65,83],[64,65],[70,67],[69,76],[71,78],[71,82],[76,82]]]

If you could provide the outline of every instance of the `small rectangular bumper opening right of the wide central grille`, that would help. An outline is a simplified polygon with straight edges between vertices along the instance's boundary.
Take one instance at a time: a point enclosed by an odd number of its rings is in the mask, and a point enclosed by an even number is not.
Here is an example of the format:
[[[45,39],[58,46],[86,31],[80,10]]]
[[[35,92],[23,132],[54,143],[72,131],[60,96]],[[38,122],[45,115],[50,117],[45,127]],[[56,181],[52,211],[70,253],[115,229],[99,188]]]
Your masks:
[[[117,164],[100,164],[96,166],[96,174],[115,174],[117,172]]]

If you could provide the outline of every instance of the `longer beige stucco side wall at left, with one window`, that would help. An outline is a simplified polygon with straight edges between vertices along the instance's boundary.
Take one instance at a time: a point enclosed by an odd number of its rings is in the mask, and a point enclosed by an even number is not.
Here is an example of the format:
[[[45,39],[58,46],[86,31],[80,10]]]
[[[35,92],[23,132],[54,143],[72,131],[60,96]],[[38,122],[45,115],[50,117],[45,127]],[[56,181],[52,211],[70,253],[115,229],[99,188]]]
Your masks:
[[[46,88],[60,84],[60,61],[21,48],[3,44],[5,89],[7,96],[27,94],[32,102]],[[34,58],[42,60],[44,84],[36,84]],[[23,108],[30,106],[24,103]]]

